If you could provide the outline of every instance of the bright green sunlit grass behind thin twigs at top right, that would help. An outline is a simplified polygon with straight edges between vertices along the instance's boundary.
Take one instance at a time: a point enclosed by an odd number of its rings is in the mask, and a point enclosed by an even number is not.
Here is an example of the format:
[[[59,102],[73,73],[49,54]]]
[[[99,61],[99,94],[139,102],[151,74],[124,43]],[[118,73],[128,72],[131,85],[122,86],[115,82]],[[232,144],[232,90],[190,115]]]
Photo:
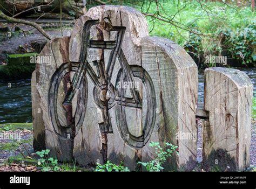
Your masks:
[[[177,1],[160,1],[163,5],[165,12],[162,12],[165,16],[174,15],[178,12],[178,9],[182,9],[185,6],[184,1],[180,1],[178,5]],[[144,6],[146,8],[146,6]],[[184,25],[191,25],[194,29],[199,30],[200,33],[205,35],[214,33],[220,27],[227,27],[233,31],[244,28],[248,24],[252,24],[255,18],[252,15],[250,7],[237,9],[238,11],[230,8],[223,3],[207,3],[205,8],[207,12],[201,9],[198,2],[191,2],[174,17],[174,22],[179,22]],[[145,9],[143,9],[145,11]],[[151,6],[149,12],[154,12],[156,5]],[[254,13],[255,15],[255,13]],[[150,29],[153,28],[151,24],[151,18],[147,17]],[[162,36],[170,38],[176,41],[181,46],[186,44],[186,39],[189,38],[190,32],[177,29],[174,26],[165,25],[164,22],[157,22],[152,35]],[[183,36],[181,37],[180,34]]]

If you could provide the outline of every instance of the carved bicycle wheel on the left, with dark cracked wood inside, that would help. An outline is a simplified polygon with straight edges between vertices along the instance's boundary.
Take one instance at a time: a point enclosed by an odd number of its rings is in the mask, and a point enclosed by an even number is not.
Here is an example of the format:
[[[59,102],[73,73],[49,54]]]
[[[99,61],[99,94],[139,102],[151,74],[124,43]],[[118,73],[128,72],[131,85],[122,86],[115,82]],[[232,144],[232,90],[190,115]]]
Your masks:
[[[65,104],[63,104],[65,94],[62,93],[69,92],[69,88],[72,87],[70,82],[73,75],[72,73],[77,72],[78,68],[78,63],[72,63],[71,68],[68,63],[62,64],[52,75],[50,82],[48,95],[49,117],[51,118],[56,134],[65,138],[75,137],[79,128],[82,127],[85,116],[87,103],[86,77],[83,77],[80,87],[76,91],[77,96],[75,102],[72,102],[72,104],[70,104],[71,106],[65,106]],[[64,90],[59,90],[60,86],[64,88]],[[74,113],[73,110],[75,110]]]

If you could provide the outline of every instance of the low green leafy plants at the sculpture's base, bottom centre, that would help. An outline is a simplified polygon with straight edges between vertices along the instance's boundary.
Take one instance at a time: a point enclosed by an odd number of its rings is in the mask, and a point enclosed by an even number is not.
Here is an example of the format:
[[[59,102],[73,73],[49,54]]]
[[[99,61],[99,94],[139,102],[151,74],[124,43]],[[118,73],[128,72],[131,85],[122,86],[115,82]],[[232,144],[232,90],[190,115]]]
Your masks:
[[[128,169],[128,167],[124,167],[122,165],[122,163],[120,165],[116,165],[116,164],[112,164],[110,163],[110,161],[107,161],[106,164],[104,165],[101,165],[101,164],[97,164],[96,166],[96,169],[95,169],[96,172],[112,172],[112,171],[115,171],[115,172],[129,172],[130,170]]]

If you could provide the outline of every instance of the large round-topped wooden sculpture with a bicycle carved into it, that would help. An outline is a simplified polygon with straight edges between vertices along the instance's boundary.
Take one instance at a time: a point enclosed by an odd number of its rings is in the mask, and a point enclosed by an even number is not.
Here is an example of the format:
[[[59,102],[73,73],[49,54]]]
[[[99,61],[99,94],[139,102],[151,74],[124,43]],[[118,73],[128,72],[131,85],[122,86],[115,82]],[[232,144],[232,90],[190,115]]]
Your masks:
[[[52,58],[36,66],[38,106],[53,156],[84,166],[124,162],[135,170],[138,160],[153,158],[153,141],[186,153],[175,157],[177,169],[196,162],[196,143],[175,135],[197,132],[197,66],[172,41],[149,37],[140,12],[91,8],[71,37],[49,41],[43,56]]]

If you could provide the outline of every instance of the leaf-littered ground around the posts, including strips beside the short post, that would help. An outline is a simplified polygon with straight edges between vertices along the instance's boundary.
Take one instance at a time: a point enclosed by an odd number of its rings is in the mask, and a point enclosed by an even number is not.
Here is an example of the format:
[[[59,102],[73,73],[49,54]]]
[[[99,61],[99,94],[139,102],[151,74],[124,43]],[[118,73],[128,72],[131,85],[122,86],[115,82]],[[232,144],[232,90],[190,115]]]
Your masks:
[[[202,162],[202,138],[201,121],[198,121],[198,165],[194,171],[204,171]],[[18,138],[18,139],[17,139]],[[37,167],[37,155],[33,150],[32,123],[0,124],[0,171],[39,171]],[[255,171],[256,165],[256,121],[252,122],[250,169]],[[70,171],[70,167],[66,167]],[[80,171],[80,170],[79,170]]]

